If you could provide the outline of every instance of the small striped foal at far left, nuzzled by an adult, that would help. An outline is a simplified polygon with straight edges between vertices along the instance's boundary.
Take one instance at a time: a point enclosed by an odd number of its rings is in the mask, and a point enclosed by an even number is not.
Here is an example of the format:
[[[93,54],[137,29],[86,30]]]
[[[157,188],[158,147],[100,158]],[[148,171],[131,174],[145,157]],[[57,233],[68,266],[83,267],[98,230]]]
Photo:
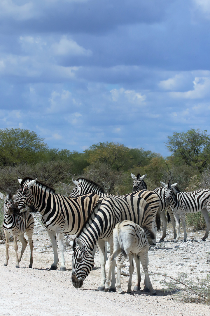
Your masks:
[[[26,235],[28,236],[29,240],[29,246],[31,250],[31,257],[30,257],[30,264],[29,268],[32,268],[33,264],[33,231],[34,231],[34,218],[33,216],[27,212],[23,211],[19,215],[15,214],[12,210],[13,206],[13,199],[12,195],[9,194],[7,196],[3,195],[0,192],[0,198],[4,200],[4,222],[3,222],[3,228],[4,228],[4,234],[6,238],[6,260],[4,262],[4,265],[7,266],[8,260],[9,260],[9,236],[12,235],[14,237],[14,251],[15,251],[15,257],[16,257],[16,268],[19,268],[20,260],[22,258],[22,255],[26,249],[27,246],[27,240],[24,237],[24,233],[26,232]],[[18,244],[17,240],[20,240],[22,243],[22,249],[20,253],[20,258],[18,258]]]

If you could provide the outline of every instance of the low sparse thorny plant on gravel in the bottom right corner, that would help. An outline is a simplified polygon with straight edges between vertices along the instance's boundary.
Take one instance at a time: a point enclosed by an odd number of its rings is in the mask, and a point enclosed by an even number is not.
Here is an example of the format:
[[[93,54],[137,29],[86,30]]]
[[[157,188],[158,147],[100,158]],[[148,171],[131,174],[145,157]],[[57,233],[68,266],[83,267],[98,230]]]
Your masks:
[[[196,276],[196,280],[192,280],[186,273],[179,273],[176,278],[167,276],[166,274],[154,273],[154,275],[162,276],[159,281],[166,289],[164,292],[176,292],[177,298],[184,302],[197,302],[210,304],[210,275],[203,279]]]

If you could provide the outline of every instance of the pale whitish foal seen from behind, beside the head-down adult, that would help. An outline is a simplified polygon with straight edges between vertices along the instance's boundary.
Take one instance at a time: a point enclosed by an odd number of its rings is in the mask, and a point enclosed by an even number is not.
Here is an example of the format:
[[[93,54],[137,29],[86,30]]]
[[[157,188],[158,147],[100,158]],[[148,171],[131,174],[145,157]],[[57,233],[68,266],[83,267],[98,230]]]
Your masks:
[[[117,223],[113,230],[113,242],[114,242],[114,251],[109,258],[109,277],[107,282],[107,288],[109,288],[110,277],[111,277],[111,267],[114,263],[114,259],[118,254],[117,258],[117,277],[116,277],[116,287],[119,294],[123,293],[121,288],[121,269],[125,259],[129,256],[129,281],[128,281],[128,293],[131,293],[132,286],[132,275],[134,271],[133,257],[136,263],[137,270],[137,279],[138,283],[134,286],[134,291],[140,290],[140,262],[142,264],[143,270],[145,272],[145,287],[144,292],[152,292],[153,295],[156,295],[156,291],[153,289],[150,282],[150,276],[148,274],[148,251],[149,251],[149,242],[152,244],[152,239],[154,239],[154,234],[148,229],[143,229],[139,225],[135,224],[132,221],[122,221]],[[139,262],[140,260],[140,262]]]

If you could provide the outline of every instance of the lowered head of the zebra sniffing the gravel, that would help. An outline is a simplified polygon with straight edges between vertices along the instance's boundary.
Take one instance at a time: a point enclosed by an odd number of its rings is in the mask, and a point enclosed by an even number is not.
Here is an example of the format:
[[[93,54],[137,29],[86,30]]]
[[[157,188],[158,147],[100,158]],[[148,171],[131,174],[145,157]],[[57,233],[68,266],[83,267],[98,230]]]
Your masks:
[[[72,255],[72,275],[71,282],[78,289],[82,287],[84,279],[88,276],[94,267],[94,258],[92,253],[88,253],[81,240],[75,238]]]

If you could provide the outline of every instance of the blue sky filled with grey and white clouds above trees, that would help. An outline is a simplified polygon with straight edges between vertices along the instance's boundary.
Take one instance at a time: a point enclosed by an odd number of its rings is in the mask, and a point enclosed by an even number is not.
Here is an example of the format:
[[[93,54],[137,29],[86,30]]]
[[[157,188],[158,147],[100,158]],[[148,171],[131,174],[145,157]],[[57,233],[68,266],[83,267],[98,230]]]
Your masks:
[[[0,128],[168,155],[210,134],[209,0],[0,0]]]

